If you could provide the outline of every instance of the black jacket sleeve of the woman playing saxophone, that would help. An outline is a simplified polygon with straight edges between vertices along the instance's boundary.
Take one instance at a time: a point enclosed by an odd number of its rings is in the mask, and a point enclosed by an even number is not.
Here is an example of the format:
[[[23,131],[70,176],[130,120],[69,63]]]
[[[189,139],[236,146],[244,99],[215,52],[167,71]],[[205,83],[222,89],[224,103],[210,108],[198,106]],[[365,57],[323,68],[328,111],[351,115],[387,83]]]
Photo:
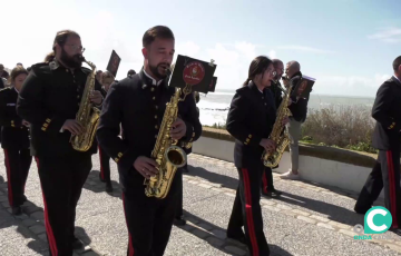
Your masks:
[[[227,131],[237,140],[248,146],[260,146],[261,137],[253,135],[246,126],[246,116],[252,111],[245,96],[236,92],[227,116]]]

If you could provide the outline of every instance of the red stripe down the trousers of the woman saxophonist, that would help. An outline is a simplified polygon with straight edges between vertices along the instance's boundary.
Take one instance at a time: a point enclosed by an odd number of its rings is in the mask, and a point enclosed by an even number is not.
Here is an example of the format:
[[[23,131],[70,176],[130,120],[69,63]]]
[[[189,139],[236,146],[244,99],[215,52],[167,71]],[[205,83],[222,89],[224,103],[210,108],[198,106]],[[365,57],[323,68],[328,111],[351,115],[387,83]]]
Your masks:
[[[247,169],[242,169],[243,177],[244,177],[244,187],[245,187],[245,215],[246,221],[248,225],[250,238],[252,244],[252,252],[254,256],[258,255],[258,247],[255,234],[255,225],[253,221],[253,214],[252,214],[252,196],[251,196],[251,184],[250,184],[250,176]]]

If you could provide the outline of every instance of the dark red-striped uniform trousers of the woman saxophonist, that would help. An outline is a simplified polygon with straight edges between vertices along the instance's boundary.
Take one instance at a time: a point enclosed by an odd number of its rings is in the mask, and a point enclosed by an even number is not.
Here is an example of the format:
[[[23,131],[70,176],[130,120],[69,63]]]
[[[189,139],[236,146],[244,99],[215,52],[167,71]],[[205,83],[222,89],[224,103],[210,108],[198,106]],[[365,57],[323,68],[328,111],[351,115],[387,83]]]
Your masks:
[[[263,169],[262,163],[260,166],[237,168],[239,183],[227,228],[227,236],[241,237],[242,226],[245,226],[246,244],[252,256],[270,255],[260,204]]]

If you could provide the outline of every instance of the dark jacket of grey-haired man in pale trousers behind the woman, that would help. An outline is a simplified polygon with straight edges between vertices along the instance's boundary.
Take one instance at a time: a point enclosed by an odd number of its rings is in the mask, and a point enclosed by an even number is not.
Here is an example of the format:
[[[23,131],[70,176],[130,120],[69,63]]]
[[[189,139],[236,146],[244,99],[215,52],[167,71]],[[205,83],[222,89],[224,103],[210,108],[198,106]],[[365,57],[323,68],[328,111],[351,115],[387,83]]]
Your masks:
[[[297,85],[297,82],[300,81],[301,77],[302,77],[302,73],[296,72],[291,78],[292,104],[290,105],[288,109],[291,110],[291,114],[292,114],[292,117],[290,117],[290,118],[293,118],[294,120],[300,121],[300,122],[304,122],[306,119],[306,115],[307,115],[309,98],[307,99],[304,99],[304,98],[296,99],[296,97],[295,97],[296,91],[294,91],[294,88]]]

